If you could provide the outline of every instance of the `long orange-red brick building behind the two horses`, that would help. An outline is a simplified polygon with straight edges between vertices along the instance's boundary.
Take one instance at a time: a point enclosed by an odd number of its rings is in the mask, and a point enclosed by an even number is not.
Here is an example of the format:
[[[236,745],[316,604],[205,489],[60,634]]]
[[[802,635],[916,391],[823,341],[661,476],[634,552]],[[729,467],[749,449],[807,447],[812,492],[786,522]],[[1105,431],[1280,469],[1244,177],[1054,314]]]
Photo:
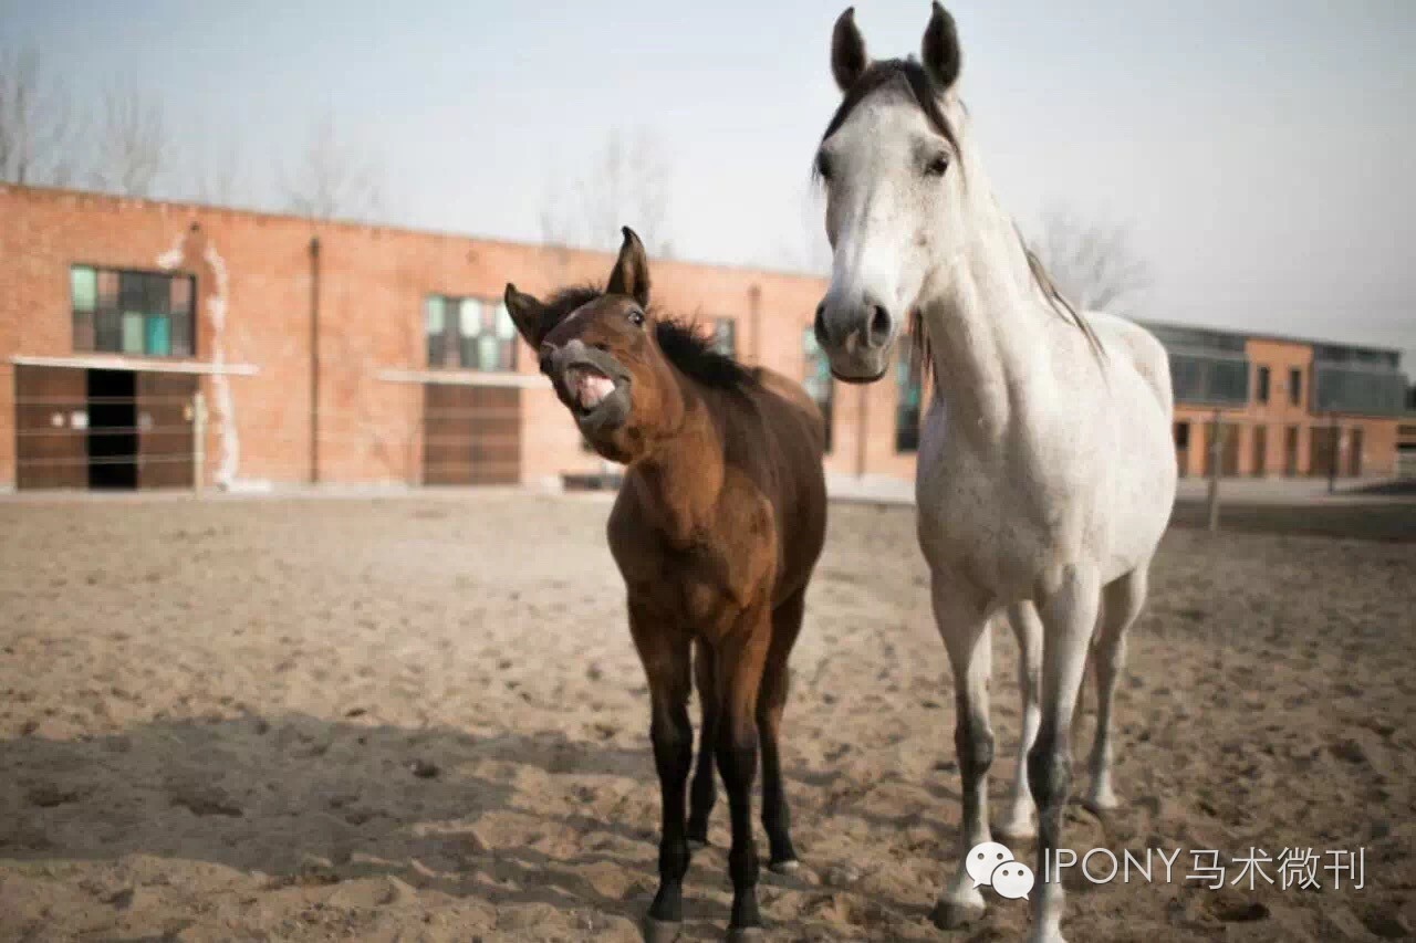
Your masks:
[[[542,295],[610,265],[595,252],[0,185],[0,487],[598,471],[500,297],[508,280]],[[810,328],[824,280],[671,261],[653,275],[663,309],[807,385],[830,416],[830,473],[913,476],[918,377],[902,358],[893,382],[830,379]],[[1175,365],[1185,471],[1204,467],[1215,408],[1235,430],[1223,453],[1235,473],[1324,471],[1328,409],[1341,413],[1344,474],[1395,469],[1400,398],[1395,411],[1382,398],[1400,377],[1395,353],[1157,330]]]

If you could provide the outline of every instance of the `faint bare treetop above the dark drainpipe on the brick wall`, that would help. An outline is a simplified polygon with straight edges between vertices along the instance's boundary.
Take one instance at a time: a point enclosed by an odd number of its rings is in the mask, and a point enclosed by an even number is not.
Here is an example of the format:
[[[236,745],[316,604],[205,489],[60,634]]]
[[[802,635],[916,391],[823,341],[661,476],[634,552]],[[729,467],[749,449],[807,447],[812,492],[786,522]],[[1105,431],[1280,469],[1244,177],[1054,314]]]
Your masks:
[[[384,187],[377,161],[340,140],[329,112],[310,127],[295,170],[282,177],[286,208],[302,217],[372,221],[382,214]]]

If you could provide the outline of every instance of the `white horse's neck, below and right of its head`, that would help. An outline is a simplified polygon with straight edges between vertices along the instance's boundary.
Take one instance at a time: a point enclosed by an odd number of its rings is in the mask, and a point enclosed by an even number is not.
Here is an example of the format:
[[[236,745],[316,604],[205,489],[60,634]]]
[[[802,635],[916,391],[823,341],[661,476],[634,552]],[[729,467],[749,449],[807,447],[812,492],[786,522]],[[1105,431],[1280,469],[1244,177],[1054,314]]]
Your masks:
[[[1012,219],[966,147],[964,222],[926,283],[920,312],[936,394],[964,436],[997,442],[1045,404],[1052,375],[1046,300]]]

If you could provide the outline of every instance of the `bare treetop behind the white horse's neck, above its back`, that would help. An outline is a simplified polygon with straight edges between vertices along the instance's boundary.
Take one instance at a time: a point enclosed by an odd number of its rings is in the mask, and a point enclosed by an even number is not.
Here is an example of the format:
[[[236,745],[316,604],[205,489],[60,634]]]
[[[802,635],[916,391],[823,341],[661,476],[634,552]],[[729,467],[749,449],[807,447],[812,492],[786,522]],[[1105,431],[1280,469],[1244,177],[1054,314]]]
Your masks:
[[[1083,310],[1129,314],[1151,286],[1150,265],[1119,225],[1085,224],[1069,210],[1051,207],[1037,249],[1052,280]]]

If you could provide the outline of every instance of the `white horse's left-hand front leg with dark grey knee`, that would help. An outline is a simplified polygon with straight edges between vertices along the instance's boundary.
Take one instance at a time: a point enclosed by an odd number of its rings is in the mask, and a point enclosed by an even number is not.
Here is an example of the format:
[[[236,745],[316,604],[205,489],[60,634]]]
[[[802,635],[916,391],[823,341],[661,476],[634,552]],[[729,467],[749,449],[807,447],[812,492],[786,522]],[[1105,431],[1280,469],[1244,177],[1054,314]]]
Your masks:
[[[963,782],[963,814],[959,825],[957,869],[935,905],[935,923],[956,927],[984,912],[984,899],[964,867],[974,845],[993,841],[988,833],[988,766],[993,763],[993,728],[988,724],[988,677],[993,671],[991,623],[971,593],[940,579],[932,585],[935,622],[949,651],[954,674],[954,749]]]

